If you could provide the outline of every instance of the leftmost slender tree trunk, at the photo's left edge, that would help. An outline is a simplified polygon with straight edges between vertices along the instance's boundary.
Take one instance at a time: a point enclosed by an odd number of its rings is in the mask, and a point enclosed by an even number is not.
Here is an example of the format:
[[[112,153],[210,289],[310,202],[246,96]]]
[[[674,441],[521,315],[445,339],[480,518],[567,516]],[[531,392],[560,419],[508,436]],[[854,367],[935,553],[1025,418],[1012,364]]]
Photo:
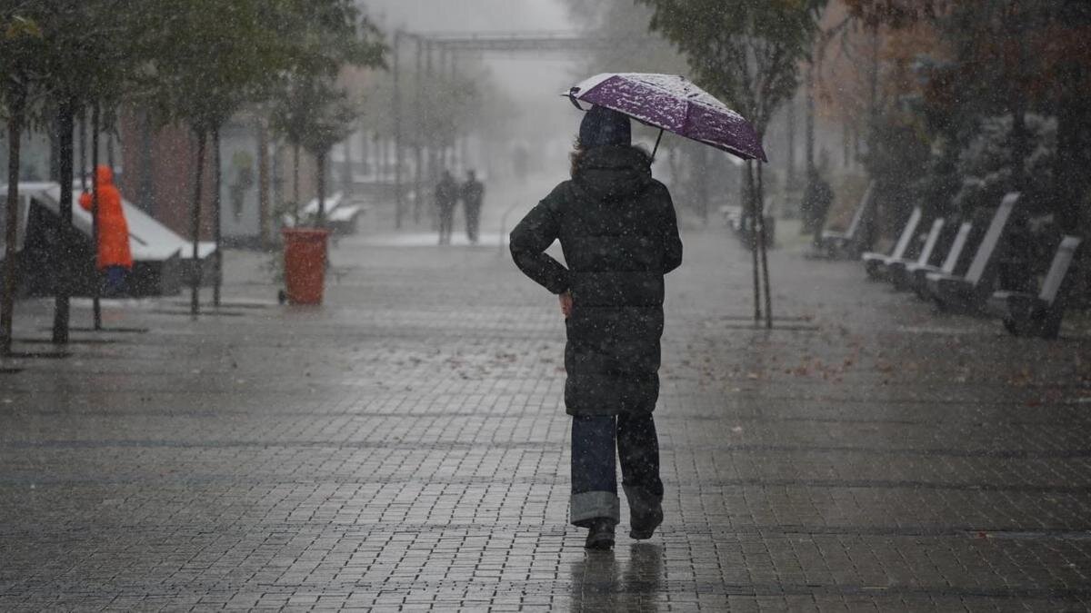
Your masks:
[[[12,83],[8,107],[8,205],[4,209],[3,295],[0,301],[0,356],[11,354],[12,325],[14,323],[16,274],[19,253],[15,249],[19,230],[19,164],[23,135],[23,113],[26,110],[26,91]]]

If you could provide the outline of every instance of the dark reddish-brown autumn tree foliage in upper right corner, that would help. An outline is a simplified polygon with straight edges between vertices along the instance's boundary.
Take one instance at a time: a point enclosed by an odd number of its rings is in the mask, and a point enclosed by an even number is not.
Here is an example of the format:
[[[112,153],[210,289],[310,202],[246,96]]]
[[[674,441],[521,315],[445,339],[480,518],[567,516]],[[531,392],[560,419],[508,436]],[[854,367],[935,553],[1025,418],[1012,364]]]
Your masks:
[[[1057,121],[1050,195],[1032,205],[1067,232],[1091,231],[1091,3],[1072,0],[846,0],[862,23],[904,31],[926,24],[938,45],[922,53],[922,117],[957,156],[981,122],[1010,118],[1009,189],[1024,189],[1032,149],[1027,113]]]

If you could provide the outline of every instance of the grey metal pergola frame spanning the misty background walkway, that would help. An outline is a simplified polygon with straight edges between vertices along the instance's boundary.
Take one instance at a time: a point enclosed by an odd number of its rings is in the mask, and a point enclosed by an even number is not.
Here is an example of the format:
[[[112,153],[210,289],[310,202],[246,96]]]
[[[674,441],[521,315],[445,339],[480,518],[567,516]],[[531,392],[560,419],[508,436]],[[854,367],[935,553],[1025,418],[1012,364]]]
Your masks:
[[[424,77],[435,74],[436,67],[446,74],[453,74],[456,70],[456,57],[459,53],[479,55],[550,55],[550,56],[573,56],[590,51],[609,49],[616,44],[614,40],[604,38],[589,38],[573,32],[480,32],[480,33],[411,33],[398,31],[394,36],[391,72],[394,76],[394,183],[395,197],[397,199],[395,209],[395,224],[400,228],[405,216],[405,193],[403,176],[405,155],[405,132],[403,125],[401,97],[405,84],[401,79],[401,53],[407,43],[412,44],[415,50],[415,95],[413,104],[416,112],[421,115],[421,91]],[[436,58],[436,56],[439,56]],[[420,123],[413,127],[412,155],[415,160],[413,190],[416,199],[413,202],[413,218],[420,221],[421,193],[423,188],[422,168],[424,167],[424,152],[422,127]],[[434,167],[434,165],[430,165]]]

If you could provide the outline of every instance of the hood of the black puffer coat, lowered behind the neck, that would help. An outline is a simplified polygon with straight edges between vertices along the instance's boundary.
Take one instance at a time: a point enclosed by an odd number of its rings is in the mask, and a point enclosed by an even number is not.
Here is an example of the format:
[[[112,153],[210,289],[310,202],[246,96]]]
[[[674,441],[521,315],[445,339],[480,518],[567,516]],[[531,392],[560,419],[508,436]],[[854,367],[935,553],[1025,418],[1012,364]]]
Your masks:
[[[651,183],[651,156],[624,145],[590,148],[576,159],[573,179],[598,199],[632,196]]]

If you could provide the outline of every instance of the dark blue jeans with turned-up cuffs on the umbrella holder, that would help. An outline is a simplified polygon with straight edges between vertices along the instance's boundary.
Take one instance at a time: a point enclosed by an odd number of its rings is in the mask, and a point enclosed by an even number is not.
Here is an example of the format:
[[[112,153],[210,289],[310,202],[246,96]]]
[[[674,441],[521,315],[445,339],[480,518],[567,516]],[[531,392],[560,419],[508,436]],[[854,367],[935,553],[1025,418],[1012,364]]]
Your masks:
[[[621,458],[622,485],[631,508],[658,506],[663,498],[659,479],[659,438],[651,413],[572,418],[572,502],[574,525],[592,519],[621,519],[614,450]]]

